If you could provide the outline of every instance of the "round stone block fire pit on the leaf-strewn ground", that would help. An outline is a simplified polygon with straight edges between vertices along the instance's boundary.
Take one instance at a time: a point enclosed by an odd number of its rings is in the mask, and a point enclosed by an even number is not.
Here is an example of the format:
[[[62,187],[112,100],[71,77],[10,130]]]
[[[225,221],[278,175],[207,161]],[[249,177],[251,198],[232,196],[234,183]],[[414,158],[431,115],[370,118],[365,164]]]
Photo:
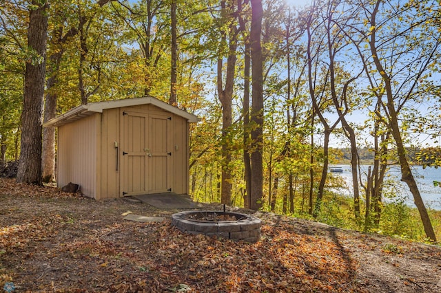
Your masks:
[[[246,242],[257,242],[260,239],[260,219],[242,213],[190,210],[173,214],[172,225],[189,234]]]

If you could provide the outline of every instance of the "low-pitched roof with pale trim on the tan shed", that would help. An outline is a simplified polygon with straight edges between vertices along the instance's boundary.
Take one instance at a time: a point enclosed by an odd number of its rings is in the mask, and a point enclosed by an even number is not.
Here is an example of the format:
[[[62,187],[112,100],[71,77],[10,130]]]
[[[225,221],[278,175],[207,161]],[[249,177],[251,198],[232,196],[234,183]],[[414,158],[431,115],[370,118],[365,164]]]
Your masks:
[[[188,122],[198,122],[198,117],[174,107],[162,100],[158,100],[153,97],[143,97],[143,98],[127,98],[123,100],[108,100],[104,102],[90,102],[86,105],[81,105],[74,109],[71,109],[60,116],[52,118],[51,120],[44,122],[43,127],[59,127],[64,124],[68,124],[70,122],[74,122],[81,118],[92,115],[93,113],[103,113],[105,109],[114,109],[120,107],[130,107],[130,106],[138,106],[138,105],[147,105],[151,104],[158,108],[161,108],[170,113],[174,113],[178,116],[186,118]]]

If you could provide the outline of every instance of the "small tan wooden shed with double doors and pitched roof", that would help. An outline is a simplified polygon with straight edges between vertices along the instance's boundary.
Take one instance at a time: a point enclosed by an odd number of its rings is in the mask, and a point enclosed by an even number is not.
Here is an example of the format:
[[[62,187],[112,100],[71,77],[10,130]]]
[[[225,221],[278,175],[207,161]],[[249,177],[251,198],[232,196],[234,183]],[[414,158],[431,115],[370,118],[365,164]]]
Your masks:
[[[152,97],[92,102],[43,124],[58,127],[57,186],[95,199],[189,191],[189,123]]]

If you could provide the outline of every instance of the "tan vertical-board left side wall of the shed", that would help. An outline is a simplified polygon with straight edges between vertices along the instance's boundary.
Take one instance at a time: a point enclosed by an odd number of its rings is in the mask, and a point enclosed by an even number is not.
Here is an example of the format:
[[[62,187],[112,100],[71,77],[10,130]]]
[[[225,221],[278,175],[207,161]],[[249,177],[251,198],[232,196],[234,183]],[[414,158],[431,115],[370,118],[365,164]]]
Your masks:
[[[69,182],[80,184],[81,192],[96,197],[96,162],[99,133],[96,122],[101,114],[59,127],[57,161],[59,187]],[[98,116],[98,117],[97,117]]]

